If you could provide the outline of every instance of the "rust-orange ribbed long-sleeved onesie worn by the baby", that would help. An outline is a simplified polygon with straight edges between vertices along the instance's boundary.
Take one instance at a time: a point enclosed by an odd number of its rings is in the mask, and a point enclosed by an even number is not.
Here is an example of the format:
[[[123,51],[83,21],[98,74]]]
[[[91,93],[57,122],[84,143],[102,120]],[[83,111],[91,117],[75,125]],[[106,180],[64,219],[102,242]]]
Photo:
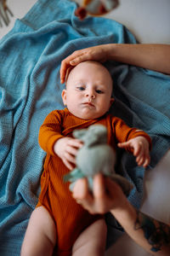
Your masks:
[[[75,129],[87,128],[89,125],[105,125],[108,130],[108,143],[113,148],[117,142],[144,136],[150,143],[150,137],[141,130],[129,128],[122,119],[105,114],[99,119],[79,119],[67,108],[54,110],[44,120],[40,132],[39,143],[47,152],[44,170],[41,177],[41,193],[37,207],[43,206],[53,216],[57,229],[57,245],[55,255],[70,256],[71,247],[90,224],[102,216],[91,215],[72,198],[69,183],[63,177],[69,172],[63,161],[54,153],[54,143],[61,137],[72,137]]]

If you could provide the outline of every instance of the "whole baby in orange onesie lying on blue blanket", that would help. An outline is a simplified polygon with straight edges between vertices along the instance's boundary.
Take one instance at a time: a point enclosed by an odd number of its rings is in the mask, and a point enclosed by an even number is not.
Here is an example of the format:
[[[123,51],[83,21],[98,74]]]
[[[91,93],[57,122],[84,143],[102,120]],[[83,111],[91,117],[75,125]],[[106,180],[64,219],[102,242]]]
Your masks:
[[[82,147],[72,131],[94,124],[106,126],[111,147],[117,144],[132,152],[139,166],[150,163],[150,137],[108,113],[114,101],[111,93],[111,75],[99,62],[84,61],[69,73],[62,91],[67,108],[49,113],[40,128],[39,143],[47,157],[41,194],[31,214],[21,255],[104,255],[103,216],[91,215],[78,205],[63,177],[75,167],[77,150]]]

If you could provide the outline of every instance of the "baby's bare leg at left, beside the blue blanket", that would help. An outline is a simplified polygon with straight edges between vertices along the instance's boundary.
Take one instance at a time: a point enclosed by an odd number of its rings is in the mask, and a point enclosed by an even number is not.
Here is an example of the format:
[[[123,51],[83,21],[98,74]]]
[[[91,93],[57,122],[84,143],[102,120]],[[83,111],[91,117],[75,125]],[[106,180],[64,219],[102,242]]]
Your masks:
[[[56,228],[53,218],[45,207],[37,207],[31,213],[20,255],[52,255],[55,242]]]

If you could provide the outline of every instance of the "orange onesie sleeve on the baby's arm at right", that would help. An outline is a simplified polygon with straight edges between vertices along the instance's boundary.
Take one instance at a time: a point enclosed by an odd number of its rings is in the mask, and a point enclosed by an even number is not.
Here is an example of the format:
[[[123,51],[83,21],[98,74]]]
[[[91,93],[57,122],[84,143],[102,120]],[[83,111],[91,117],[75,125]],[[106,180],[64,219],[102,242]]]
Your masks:
[[[128,125],[126,125],[126,123],[122,119],[119,119],[119,118],[114,118],[112,120],[112,127],[115,130],[115,136],[116,136],[117,142],[125,143],[134,137],[143,136],[147,139],[151,149],[151,139],[146,132],[139,130],[137,128],[129,127]]]

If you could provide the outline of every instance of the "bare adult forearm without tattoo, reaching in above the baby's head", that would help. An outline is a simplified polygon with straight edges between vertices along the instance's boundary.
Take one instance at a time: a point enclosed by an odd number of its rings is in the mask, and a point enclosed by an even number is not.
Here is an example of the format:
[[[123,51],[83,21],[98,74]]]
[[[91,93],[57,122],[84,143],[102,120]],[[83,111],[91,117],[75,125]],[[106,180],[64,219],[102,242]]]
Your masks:
[[[107,44],[107,58],[170,74],[170,44]]]

